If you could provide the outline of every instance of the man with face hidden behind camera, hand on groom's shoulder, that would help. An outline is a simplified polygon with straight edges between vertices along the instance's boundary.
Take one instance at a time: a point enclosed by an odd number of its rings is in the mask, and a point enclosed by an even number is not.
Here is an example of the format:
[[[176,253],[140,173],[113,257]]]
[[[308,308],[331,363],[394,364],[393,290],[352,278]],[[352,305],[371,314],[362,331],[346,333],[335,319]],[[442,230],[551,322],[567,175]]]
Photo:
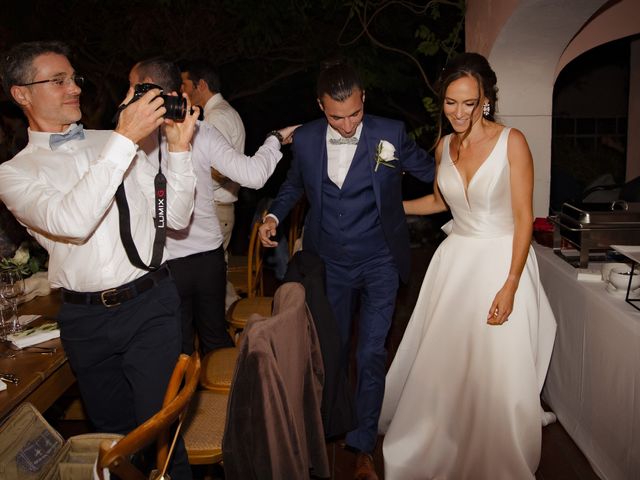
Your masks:
[[[180,70],[171,61],[155,57],[137,63],[129,74],[129,84],[140,89],[148,83],[165,92],[180,89]],[[262,187],[282,158],[281,144],[292,141],[297,127],[287,127],[267,136],[253,157],[239,153],[213,126],[198,122],[192,141],[192,162],[196,174],[193,217],[189,226],[169,231],[169,266],[182,299],[182,350],[194,349],[194,326],[203,355],[233,345],[225,323],[226,264],[224,237],[216,214],[215,186],[211,168],[249,188]],[[159,148],[160,146],[160,148]],[[140,142],[152,162],[166,148],[154,132]]]

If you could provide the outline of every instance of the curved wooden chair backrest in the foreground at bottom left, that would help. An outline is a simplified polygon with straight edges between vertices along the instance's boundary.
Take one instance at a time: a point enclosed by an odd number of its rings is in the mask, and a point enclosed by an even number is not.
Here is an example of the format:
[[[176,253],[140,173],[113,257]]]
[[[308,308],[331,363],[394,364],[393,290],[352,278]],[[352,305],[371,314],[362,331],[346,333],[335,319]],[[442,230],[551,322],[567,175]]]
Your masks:
[[[129,457],[157,441],[157,468],[166,464],[170,450],[170,427],[181,418],[200,377],[200,358],[197,352],[190,357],[181,354],[173,370],[165,393],[162,409],[137,428],[129,432],[115,445],[105,441],[98,452],[98,475],[102,478],[103,468],[118,475],[123,480],[146,480],[147,476],[134,467]]]

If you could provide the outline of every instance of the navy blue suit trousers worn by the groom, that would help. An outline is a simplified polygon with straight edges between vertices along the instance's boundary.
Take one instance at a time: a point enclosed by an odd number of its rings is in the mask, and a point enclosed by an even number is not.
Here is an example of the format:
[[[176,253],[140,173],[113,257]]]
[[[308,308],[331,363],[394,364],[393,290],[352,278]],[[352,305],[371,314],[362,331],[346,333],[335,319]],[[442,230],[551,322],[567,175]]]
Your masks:
[[[357,450],[371,452],[378,437],[378,418],[384,397],[385,340],[398,292],[398,269],[390,255],[348,266],[327,259],[325,264],[327,297],[340,330],[345,366],[349,360],[355,307],[360,305],[356,347],[357,427],[347,433],[346,443]]]

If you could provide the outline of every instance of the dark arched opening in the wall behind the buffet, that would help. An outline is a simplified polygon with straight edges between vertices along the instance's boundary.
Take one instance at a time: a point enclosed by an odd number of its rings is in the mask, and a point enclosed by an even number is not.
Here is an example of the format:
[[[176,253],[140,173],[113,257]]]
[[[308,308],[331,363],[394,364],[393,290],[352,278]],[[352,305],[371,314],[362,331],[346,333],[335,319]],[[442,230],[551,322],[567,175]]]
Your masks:
[[[587,50],[556,78],[552,211],[565,201],[610,202],[621,194],[614,186],[627,180],[629,72],[636,40],[627,37]]]

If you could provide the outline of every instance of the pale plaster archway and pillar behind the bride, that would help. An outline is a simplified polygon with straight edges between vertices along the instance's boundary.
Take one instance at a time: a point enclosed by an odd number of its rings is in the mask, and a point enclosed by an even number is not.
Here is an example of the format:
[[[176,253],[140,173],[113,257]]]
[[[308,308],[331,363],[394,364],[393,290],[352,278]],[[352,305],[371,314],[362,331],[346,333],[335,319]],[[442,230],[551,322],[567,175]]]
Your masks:
[[[536,216],[549,210],[552,98],[558,71],[585,50],[640,32],[637,10],[636,0],[468,3],[467,50],[489,58],[498,75],[499,117],[525,133],[534,156]]]

